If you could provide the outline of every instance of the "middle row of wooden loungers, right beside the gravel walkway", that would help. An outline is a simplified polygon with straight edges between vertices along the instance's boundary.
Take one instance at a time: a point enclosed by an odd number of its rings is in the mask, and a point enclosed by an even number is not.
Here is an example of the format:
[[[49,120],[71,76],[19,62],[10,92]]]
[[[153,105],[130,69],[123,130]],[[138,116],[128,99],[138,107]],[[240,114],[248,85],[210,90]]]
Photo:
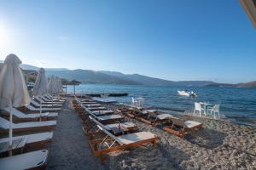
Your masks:
[[[100,105],[93,101],[73,100],[73,107],[84,122],[84,134],[90,137],[89,144],[92,153],[101,161],[106,155],[117,150],[138,147],[142,144],[156,145],[158,137],[150,132],[137,132],[137,127],[131,122],[123,122],[124,117],[114,115],[113,111],[97,116],[95,111],[102,111]],[[88,105],[90,104],[90,105]],[[95,105],[91,111],[91,105]],[[97,110],[97,107],[101,107]],[[105,110],[106,111],[106,110]]]

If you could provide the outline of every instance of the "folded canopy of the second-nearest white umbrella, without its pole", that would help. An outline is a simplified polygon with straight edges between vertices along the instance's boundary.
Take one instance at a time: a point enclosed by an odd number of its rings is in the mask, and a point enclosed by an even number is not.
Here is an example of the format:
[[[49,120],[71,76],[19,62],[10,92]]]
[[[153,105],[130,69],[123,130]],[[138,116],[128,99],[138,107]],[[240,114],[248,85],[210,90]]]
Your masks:
[[[38,77],[32,91],[32,94],[34,96],[43,95],[47,93],[47,79],[44,74],[45,71],[43,68],[40,68],[38,72]]]

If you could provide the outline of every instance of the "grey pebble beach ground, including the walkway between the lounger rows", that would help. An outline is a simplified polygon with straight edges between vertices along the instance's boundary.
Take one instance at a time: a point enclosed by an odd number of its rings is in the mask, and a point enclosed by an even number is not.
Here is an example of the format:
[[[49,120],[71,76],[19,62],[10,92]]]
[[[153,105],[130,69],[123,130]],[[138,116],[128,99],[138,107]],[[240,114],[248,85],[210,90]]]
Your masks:
[[[232,122],[182,116],[184,120],[203,123],[203,129],[184,138],[166,133],[161,126],[125,117],[139,131],[159,137],[157,146],[145,145],[131,150],[113,152],[101,164],[90,152],[88,138],[82,131],[79,116],[65,103],[53,142],[49,146],[47,169],[255,169],[256,129]],[[105,105],[116,110],[122,105]]]

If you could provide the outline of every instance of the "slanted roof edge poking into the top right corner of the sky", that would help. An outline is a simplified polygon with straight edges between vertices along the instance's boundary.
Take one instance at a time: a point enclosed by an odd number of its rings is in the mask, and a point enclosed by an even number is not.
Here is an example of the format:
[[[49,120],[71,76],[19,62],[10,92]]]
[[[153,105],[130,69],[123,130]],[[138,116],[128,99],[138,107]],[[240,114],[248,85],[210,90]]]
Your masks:
[[[248,18],[252,21],[256,29],[256,0],[239,0],[242,8],[244,8]]]

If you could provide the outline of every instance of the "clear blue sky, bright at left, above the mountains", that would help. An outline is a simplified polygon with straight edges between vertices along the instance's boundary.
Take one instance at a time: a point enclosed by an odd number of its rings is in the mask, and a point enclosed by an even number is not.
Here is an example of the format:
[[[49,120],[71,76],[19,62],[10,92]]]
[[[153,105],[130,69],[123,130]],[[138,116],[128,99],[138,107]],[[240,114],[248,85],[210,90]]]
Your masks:
[[[167,80],[256,80],[238,0],[0,0],[0,60]]]

